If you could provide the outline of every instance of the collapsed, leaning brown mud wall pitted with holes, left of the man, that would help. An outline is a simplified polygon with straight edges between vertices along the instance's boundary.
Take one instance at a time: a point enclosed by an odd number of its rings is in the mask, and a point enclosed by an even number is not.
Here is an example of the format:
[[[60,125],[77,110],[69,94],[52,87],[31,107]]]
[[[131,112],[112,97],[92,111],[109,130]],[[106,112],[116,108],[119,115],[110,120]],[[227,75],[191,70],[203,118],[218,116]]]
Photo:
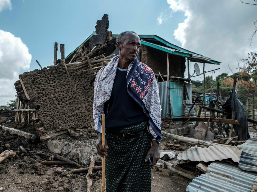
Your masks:
[[[46,131],[86,129],[94,122],[94,77],[89,70],[69,73],[59,65],[20,75]]]

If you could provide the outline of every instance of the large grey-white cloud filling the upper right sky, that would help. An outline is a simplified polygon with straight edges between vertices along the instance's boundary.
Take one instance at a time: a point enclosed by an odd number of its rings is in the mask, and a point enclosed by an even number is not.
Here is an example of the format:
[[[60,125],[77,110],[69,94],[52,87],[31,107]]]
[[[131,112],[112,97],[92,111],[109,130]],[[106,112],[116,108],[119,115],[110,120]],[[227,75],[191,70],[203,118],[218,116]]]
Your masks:
[[[257,35],[249,49],[253,20],[257,19],[256,6],[242,4],[239,0],[167,2],[173,12],[183,11],[187,17],[173,34],[182,47],[222,62],[220,70],[206,75],[231,74],[228,64],[236,72],[240,59],[246,58],[247,52],[256,51]],[[205,70],[215,68],[218,66],[206,64]]]

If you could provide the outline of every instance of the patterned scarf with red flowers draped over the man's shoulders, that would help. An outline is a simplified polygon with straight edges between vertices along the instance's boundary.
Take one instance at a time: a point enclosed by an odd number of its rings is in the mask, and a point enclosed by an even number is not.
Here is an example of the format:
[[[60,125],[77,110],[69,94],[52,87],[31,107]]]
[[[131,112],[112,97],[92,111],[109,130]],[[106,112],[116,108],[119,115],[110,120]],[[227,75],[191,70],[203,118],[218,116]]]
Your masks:
[[[104,114],[104,103],[111,97],[118,64],[119,56],[115,56],[96,75],[93,118],[95,130],[98,132],[102,132],[100,119],[101,115]],[[152,69],[139,62],[137,58],[128,66],[127,92],[143,108],[146,116],[149,118],[149,132],[160,142],[161,105],[158,84]]]

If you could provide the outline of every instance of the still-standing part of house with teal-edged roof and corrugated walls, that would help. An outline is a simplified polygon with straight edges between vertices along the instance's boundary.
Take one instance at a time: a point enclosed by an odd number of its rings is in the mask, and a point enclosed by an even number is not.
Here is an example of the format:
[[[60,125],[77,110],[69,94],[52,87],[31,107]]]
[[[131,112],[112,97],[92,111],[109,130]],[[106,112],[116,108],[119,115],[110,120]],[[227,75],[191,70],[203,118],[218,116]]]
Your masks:
[[[105,56],[119,54],[115,47],[117,36],[111,35],[113,44],[109,46]],[[141,47],[137,58],[147,64],[158,79],[162,118],[177,118],[186,115],[192,106],[192,81],[184,78],[186,61],[214,65],[219,65],[220,62],[171,44],[157,35],[138,36],[141,40]],[[65,58],[66,63],[70,62],[79,47],[94,49],[95,41],[93,45],[90,41],[93,37],[97,37],[95,32]],[[190,116],[195,116],[194,107],[190,110]]]

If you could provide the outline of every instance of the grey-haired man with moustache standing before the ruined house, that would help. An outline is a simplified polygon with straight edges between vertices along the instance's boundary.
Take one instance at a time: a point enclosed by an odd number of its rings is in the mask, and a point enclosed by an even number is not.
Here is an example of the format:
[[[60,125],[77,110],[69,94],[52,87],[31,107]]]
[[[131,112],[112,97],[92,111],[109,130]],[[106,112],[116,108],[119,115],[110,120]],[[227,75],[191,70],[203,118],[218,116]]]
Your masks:
[[[151,68],[136,58],[140,46],[136,33],[122,32],[116,40],[119,55],[100,69],[95,79],[93,116],[99,132],[96,148],[101,157],[106,156],[107,192],[150,192],[151,166],[160,158],[158,85]],[[104,148],[102,114],[106,114]]]

